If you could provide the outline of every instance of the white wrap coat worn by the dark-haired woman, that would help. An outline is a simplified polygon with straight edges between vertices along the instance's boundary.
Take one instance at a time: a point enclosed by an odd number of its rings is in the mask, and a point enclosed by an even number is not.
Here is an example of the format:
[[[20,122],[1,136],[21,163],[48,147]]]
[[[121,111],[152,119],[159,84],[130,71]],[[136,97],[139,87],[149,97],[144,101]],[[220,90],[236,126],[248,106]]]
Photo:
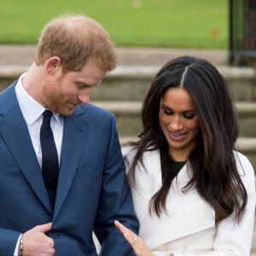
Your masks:
[[[126,169],[129,172],[131,148],[123,148],[128,156]],[[195,189],[183,193],[182,188],[189,181],[189,168],[186,164],[180,170],[166,199],[167,213],[160,218],[148,212],[151,197],[161,187],[160,152],[154,150],[143,154],[146,167],[137,166],[137,188],[131,193],[135,212],[140,223],[139,236],[156,256],[249,256],[253,237],[255,213],[255,179],[253,166],[247,157],[239,152],[236,165],[241,180],[247,189],[247,207],[240,224],[235,223],[234,215],[215,225],[213,208],[201,198]]]

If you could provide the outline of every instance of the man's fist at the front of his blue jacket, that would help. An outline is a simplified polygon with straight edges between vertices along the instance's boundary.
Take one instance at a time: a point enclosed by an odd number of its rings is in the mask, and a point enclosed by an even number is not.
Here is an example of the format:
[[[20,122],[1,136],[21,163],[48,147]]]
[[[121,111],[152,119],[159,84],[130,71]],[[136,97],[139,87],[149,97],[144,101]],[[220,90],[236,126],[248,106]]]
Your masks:
[[[35,226],[23,234],[23,256],[55,256],[55,243],[45,233],[52,223]]]

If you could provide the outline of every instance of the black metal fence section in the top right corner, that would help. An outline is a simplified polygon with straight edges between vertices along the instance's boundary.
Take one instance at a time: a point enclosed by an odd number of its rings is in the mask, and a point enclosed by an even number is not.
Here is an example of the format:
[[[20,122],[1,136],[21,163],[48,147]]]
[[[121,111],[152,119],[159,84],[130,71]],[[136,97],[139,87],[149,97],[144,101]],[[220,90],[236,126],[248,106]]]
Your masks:
[[[256,65],[256,0],[230,0],[230,65]]]

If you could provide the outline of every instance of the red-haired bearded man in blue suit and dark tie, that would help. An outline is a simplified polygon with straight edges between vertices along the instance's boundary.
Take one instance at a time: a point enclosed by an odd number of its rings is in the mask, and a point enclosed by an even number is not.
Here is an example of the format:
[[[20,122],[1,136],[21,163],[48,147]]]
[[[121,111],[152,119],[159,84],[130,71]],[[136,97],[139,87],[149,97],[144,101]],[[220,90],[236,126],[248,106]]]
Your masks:
[[[133,255],[113,225],[138,228],[115,119],[88,103],[116,63],[102,26],[63,15],[0,94],[0,255],[96,255],[93,231],[102,255]]]

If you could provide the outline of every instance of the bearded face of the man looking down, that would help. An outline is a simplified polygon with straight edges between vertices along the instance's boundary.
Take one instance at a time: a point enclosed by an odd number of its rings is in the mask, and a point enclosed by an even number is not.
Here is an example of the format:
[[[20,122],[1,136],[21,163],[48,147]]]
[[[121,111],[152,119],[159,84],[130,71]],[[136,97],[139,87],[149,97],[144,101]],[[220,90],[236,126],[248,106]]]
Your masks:
[[[90,101],[90,91],[101,84],[106,71],[88,61],[80,72],[58,73],[44,85],[43,105],[61,115],[70,115],[80,103]]]

